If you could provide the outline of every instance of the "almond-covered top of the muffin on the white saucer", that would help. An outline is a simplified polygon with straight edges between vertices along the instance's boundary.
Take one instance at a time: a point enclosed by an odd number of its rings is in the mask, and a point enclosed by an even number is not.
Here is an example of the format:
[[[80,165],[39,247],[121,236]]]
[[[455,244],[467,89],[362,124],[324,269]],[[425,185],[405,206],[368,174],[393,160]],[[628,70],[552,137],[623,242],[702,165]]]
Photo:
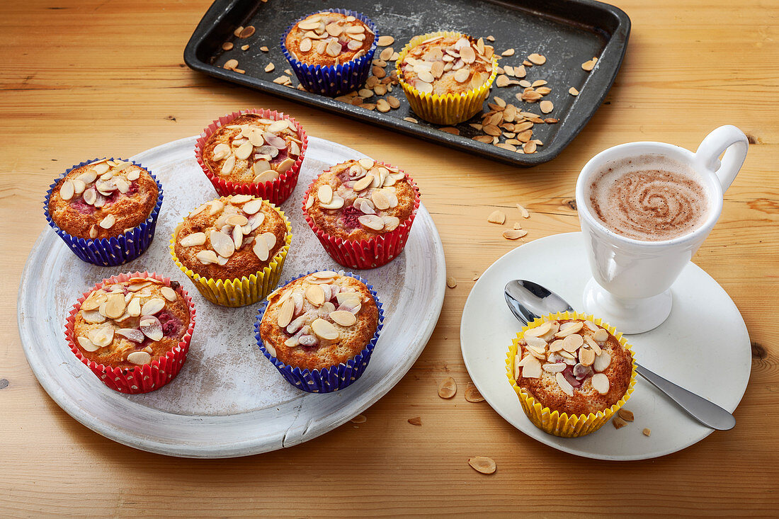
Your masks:
[[[633,356],[589,320],[554,320],[530,328],[514,360],[516,385],[541,405],[568,415],[597,413],[628,389]]]

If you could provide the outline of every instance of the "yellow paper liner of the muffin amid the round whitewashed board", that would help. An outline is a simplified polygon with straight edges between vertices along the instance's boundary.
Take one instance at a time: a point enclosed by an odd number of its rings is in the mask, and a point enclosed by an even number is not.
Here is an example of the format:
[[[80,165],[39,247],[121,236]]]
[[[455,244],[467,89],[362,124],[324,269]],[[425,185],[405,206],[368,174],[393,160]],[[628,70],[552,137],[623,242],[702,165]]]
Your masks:
[[[252,305],[270,294],[279,284],[281,268],[284,267],[284,260],[287,258],[287,252],[289,252],[290,243],[292,242],[292,225],[289,219],[284,216],[283,210],[280,210],[272,203],[270,207],[273,207],[284,218],[284,223],[287,224],[287,238],[284,241],[284,247],[280,249],[276,256],[273,256],[273,260],[263,270],[240,279],[221,280],[201,277],[185,267],[178,260],[178,256],[176,256],[175,240],[176,235],[178,235],[178,229],[181,228],[182,224],[176,226],[171,236],[171,256],[173,256],[173,261],[178,269],[189,277],[192,284],[195,285],[195,288],[198,289],[204,298],[216,305],[222,306]]]

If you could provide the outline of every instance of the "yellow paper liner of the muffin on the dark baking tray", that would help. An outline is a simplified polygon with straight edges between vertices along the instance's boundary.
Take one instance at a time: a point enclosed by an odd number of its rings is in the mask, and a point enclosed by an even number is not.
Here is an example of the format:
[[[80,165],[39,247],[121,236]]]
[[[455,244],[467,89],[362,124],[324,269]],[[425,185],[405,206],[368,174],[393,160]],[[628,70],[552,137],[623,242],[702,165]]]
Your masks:
[[[473,41],[473,38],[469,37],[467,34],[448,30],[416,36],[406,44],[402,51],[400,51],[397,62],[395,62],[395,68],[397,69],[398,79],[400,79],[400,87],[403,88],[404,94],[406,94],[408,99],[408,104],[411,105],[411,110],[413,110],[415,114],[433,124],[453,125],[458,122],[467,121],[481,111],[485,99],[487,99],[489,91],[492,88],[492,83],[495,81],[495,77],[498,76],[498,58],[494,54],[492,55],[492,75],[489,76],[489,79],[487,79],[481,87],[478,87],[475,90],[468,90],[462,94],[445,94],[442,96],[439,96],[438,94],[422,94],[419,90],[411,87],[411,85],[404,81],[400,65],[403,63],[404,58],[411,48],[436,36],[464,36]]]

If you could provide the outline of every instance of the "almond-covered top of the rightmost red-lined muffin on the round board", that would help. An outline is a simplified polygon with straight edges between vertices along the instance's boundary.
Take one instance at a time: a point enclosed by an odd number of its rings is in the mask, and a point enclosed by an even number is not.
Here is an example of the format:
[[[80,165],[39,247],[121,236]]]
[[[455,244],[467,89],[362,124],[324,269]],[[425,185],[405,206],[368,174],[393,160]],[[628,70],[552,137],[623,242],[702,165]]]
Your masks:
[[[363,240],[394,231],[411,217],[416,196],[403,171],[364,158],[319,175],[305,211],[330,236]]]

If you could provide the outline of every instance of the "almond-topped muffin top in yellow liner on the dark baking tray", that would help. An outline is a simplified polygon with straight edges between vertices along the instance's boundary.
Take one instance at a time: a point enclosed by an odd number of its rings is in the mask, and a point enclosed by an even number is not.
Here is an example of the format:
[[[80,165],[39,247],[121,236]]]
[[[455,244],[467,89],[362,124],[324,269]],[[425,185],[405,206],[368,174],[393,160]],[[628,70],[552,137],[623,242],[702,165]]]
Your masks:
[[[400,72],[422,94],[463,94],[492,76],[493,54],[481,38],[435,36],[409,49]]]

